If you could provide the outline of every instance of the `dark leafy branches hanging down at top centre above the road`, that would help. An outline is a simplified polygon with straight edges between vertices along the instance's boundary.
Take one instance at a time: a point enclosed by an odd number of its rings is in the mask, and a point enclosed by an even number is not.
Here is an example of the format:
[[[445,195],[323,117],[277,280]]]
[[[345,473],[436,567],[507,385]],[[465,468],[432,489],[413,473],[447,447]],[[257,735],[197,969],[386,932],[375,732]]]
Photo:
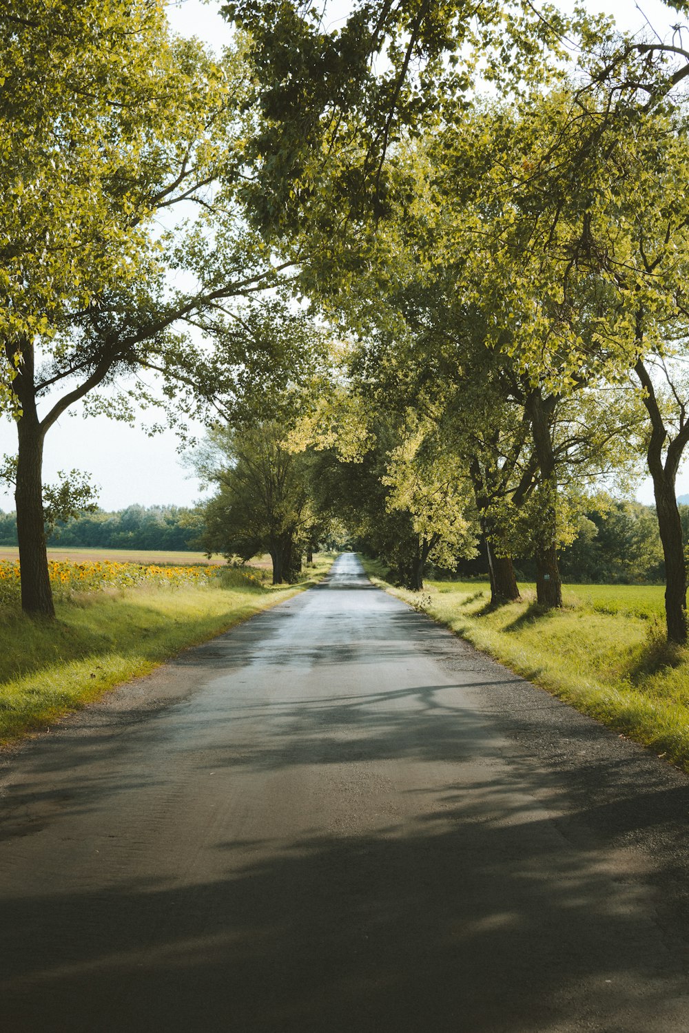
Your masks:
[[[521,92],[565,53],[562,15],[529,0],[362,0],[331,28],[312,0],[221,10],[251,35],[263,115],[246,191],[253,218],[300,245],[308,222],[310,253],[326,260],[334,239],[386,214],[388,152],[407,131],[439,125],[443,98],[465,99],[479,64],[498,88]]]

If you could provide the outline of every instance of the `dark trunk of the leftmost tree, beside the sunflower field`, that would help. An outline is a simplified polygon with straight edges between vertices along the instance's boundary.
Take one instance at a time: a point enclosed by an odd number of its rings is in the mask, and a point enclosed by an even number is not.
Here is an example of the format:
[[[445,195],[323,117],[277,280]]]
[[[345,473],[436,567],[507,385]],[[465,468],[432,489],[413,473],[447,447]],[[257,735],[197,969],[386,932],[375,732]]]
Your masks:
[[[22,609],[35,617],[55,617],[48,570],[43,523],[43,433],[35,406],[27,406],[18,421],[17,535],[22,574]]]

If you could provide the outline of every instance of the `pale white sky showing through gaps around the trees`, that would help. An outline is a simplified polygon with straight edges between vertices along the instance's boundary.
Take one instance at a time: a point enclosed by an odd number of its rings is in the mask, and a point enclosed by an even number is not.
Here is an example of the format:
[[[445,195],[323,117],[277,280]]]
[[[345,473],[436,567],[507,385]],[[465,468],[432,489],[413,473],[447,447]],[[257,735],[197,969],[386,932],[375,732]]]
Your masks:
[[[574,0],[560,0],[563,10],[571,10]],[[336,0],[332,18],[336,22],[347,11],[346,0]],[[592,11],[612,14],[620,28],[635,32],[650,22],[661,36],[669,26],[680,21],[676,11],[661,0],[585,0]],[[229,27],[218,14],[218,4],[211,0],[179,0],[168,5],[168,18],[174,29],[182,34],[195,35],[209,45],[221,48],[229,40]],[[647,22],[648,20],[648,22]],[[197,431],[202,434],[202,428]],[[17,433],[13,424],[0,419],[0,457],[17,451]],[[177,436],[166,431],[149,437],[140,427],[129,427],[100,417],[85,417],[79,409],[65,414],[45,438],[44,475],[50,483],[58,470],[73,468],[87,471],[99,486],[99,504],[103,509],[124,509],[131,504],[178,506],[193,505],[201,497],[199,483],[184,468],[178,455]],[[678,477],[678,494],[689,493],[689,470]],[[641,502],[653,502],[650,480],[637,491]],[[14,508],[11,494],[0,484],[0,509]]]

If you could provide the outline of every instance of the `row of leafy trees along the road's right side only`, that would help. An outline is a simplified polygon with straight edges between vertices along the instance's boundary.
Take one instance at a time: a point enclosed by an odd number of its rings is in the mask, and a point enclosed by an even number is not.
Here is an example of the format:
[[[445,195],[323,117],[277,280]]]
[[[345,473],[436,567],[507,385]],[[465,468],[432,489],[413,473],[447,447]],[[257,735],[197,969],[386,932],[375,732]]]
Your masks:
[[[372,437],[381,418],[401,434],[384,476],[405,442],[427,469],[461,461],[494,598],[518,594],[528,539],[538,601],[557,606],[581,497],[645,453],[668,636],[685,641],[681,30],[639,42],[526,3],[471,4],[472,21],[461,3],[381,0],[332,31],[289,3],[228,9],[261,75],[254,224],[308,255],[312,296],[357,335],[351,393]],[[497,98],[468,93],[479,54]]]

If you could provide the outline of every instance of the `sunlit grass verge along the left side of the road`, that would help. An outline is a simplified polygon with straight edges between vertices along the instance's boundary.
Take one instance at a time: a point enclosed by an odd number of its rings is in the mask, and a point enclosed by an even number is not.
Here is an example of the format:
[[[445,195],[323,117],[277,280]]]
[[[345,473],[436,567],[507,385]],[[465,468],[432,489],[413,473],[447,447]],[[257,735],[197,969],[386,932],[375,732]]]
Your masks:
[[[309,588],[333,559],[316,555],[292,586],[228,567],[209,584],[77,593],[56,602],[55,622],[0,608],[0,746]]]

